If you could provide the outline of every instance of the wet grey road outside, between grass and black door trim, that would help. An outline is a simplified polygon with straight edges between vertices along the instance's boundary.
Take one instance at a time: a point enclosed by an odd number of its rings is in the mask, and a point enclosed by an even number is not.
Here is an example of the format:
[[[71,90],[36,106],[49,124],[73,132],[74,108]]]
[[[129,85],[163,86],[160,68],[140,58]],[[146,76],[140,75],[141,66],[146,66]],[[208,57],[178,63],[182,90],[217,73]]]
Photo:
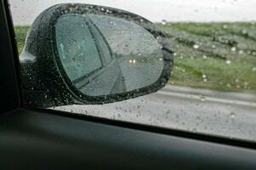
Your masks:
[[[61,111],[256,141],[256,96],[167,86],[155,94]]]

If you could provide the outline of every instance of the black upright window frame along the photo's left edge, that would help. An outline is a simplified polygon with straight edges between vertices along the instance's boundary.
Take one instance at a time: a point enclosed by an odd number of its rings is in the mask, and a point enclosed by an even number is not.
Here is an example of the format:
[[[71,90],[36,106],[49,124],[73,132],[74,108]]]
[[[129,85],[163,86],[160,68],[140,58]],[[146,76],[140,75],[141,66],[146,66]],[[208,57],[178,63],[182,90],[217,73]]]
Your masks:
[[[7,0],[0,3],[0,23],[0,113],[3,113],[22,105],[18,49]]]

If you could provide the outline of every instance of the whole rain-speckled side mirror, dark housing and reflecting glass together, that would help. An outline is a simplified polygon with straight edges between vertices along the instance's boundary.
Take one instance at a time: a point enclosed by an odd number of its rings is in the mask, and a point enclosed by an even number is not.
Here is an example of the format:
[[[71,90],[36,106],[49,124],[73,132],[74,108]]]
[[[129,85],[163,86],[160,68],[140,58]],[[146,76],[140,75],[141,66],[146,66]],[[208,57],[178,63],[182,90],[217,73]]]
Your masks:
[[[32,24],[20,55],[26,105],[105,104],[156,92],[174,60],[149,20],[126,11],[65,3]]]

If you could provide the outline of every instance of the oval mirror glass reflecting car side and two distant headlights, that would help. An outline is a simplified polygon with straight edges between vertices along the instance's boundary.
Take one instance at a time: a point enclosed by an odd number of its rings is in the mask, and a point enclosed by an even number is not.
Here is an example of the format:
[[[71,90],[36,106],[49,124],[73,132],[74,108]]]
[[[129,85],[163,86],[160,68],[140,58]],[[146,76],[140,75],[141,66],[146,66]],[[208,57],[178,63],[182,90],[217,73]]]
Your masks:
[[[145,88],[162,74],[162,45],[132,21],[64,14],[55,37],[65,74],[82,94],[122,94]]]

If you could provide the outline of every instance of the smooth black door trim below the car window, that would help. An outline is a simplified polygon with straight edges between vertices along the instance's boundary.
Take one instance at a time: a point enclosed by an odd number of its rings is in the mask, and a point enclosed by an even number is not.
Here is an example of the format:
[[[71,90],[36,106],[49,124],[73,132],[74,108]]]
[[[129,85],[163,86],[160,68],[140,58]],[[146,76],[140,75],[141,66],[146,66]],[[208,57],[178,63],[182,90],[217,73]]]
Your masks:
[[[1,169],[255,170],[256,150],[17,109],[0,115]]]

